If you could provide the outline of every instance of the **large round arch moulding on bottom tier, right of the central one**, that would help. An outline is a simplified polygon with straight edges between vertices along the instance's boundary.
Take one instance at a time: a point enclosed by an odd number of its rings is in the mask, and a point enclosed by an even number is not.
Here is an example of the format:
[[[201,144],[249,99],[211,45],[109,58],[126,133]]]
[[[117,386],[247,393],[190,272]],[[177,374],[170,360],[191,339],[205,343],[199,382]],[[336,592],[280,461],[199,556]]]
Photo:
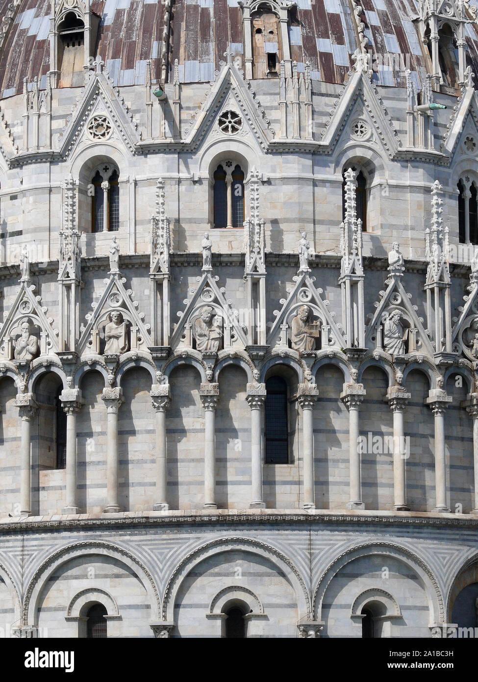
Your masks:
[[[417,556],[417,554],[414,554],[406,547],[392,542],[366,542],[360,545],[350,546],[350,548],[342,552],[339,557],[336,557],[332,563],[329,564],[327,569],[325,569],[322,576],[320,576],[314,591],[314,596],[312,598],[312,614],[314,620],[321,620],[322,599],[335,575],[351,561],[359,559],[360,557],[366,557],[370,554],[383,554],[385,557],[393,557],[394,559],[413,567],[420,576],[425,587],[425,593],[428,597],[431,612],[430,622],[444,622],[445,607],[443,596],[438,587],[438,580],[436,580],[436,577],[432,574],[431,569]]]

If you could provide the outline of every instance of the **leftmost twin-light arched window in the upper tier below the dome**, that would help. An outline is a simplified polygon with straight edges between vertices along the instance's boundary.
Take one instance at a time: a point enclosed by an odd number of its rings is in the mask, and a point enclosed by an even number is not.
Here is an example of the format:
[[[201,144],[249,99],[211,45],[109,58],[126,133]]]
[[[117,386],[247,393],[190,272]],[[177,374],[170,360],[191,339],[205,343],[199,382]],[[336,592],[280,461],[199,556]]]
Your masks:
[[[102,164],[91,178],[91,232],[119,230],[119,173]]]

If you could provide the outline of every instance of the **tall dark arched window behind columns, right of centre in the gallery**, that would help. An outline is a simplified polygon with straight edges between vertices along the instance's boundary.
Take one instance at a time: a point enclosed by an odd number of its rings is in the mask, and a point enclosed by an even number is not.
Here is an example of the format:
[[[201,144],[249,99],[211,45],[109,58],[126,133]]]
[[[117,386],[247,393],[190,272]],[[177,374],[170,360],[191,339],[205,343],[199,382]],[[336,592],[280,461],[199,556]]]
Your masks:
[[[288,396],[287,384],[280,376],[265,383],[265,462],[288,463]]]

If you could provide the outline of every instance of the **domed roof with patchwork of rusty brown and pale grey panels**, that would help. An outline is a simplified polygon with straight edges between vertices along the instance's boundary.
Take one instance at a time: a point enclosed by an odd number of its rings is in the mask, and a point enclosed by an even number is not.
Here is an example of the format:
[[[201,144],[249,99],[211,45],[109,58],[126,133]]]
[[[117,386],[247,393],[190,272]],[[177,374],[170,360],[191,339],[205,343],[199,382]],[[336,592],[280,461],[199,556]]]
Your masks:
[[[0,16],[11,0],[0,0]],[[374,81],[378,85],[405,86],[405,70],[426,73],[424,48],[417,22],[419,0],[360,0],[364,34],[376,57]],[[477,0],[469,0],[477,6]],[[359,45],[353,15],[355,0],[297,0],[290,9],[288,33],[291,57],[298,70],[310,62],[312,78],[343,83]],[[91,0],[91,10],[101,18],[97,51],[115,85],[143,85],[146,60],[151,59],[153,79],[160,80],[164,55],[164,31],[168,10],[162,1]],[[3,98],[23,89],[38,76],[40,88],[50,70],[50,0],[19,0],[13,25],[6,34],[0,55]],[[470,15],[471,17],[471,15]],[[231,46],[236,55],[244,51],[242,10],[237,0],[176,0],[168,28],[170,72],[179,63],[183,83],[207,82]],[[1,40],[1,38],[0,38]],[[478,32],[466,26],[468,60],[478,72]],[[406,55],[405,60],[400,55]]]

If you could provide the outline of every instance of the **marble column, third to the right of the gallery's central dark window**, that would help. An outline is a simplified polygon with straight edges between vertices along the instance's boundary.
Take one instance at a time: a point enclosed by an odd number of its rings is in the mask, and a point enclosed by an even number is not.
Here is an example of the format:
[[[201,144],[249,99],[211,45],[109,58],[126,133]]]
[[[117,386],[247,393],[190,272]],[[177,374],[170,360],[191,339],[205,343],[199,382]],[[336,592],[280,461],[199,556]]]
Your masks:
[[[406,451],[404,438],[404,411],[411,394],[402,387],[393,386],[387,393],[387,400],[393,413],[393,509],[409,511],[406,504]]]

